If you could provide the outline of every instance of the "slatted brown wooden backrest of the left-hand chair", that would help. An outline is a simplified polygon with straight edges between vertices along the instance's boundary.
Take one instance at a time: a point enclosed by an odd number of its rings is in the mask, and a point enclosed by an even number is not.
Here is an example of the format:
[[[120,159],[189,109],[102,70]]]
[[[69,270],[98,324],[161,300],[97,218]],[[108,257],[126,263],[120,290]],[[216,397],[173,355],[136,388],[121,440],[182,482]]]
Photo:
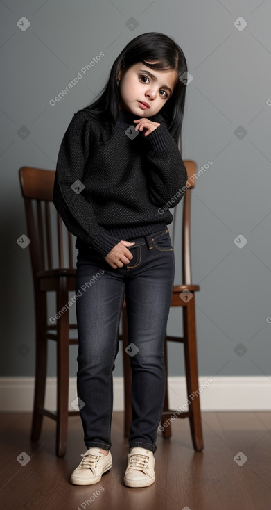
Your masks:
[[[73,238],[67,230],[53,204],[53,185],[55,170],[21,167],[19,181],[24,197],[28,237],[30,238],[30,256],[33,275],[37,271],[53,269],[53,247],[58,249],[58,268],[75,268],[73,265]],[[51,203],[51,204],[50,204]],[[54,213],[54,214],[53,214]],[[57,245],[53,241],[53,232],[57,224]],[[66,238],[66,242],[64,240]],[[69,263],[64,264],[65,249],[68,245]]]

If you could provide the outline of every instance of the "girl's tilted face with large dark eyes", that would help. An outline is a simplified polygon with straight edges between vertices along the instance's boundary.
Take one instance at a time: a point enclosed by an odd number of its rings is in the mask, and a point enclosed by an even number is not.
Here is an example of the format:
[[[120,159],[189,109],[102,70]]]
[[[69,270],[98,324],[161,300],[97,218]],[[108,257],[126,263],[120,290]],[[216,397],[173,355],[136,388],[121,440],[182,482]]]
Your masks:
[[[172,96],[177,83],[177,72],[161,72],[141,62],[128,71],[119,71],[119,109],[128,110],[140,117],[151,117],[161,110]],[[143,106],[143,101],[149,108]]]

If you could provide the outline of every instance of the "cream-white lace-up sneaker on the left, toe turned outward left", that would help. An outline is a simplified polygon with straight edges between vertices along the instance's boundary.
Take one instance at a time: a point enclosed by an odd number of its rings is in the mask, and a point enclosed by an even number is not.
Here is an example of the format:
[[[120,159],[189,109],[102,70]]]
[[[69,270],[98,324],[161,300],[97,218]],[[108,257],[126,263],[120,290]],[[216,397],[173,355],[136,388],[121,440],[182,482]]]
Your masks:
[[[70,482],[75,485],[90,485],[100,482],[106,471],[112,466],[111,452],[103,455],[100,448],[90,447],[85,454],[81,454],[82,461],[71,473]]]

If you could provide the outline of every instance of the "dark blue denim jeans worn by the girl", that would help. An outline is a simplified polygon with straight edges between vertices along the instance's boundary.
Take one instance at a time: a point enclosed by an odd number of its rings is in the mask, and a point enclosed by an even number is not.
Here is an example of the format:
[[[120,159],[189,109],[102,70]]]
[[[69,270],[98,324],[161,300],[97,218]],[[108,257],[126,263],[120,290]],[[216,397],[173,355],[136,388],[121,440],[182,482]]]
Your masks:
[[[76,270],[77,395],[84,442],[110,450],[114,361],[125,301],[132,368],[130,449],[155,452],[166,390],[164,338],[171,306],[175,256],[168,230],[126,239],[133,255],[113,269],[94,248],[80,249]],[[79,291],[79,292],[78,292]],[[82,402],[81,402],[82,401]]]

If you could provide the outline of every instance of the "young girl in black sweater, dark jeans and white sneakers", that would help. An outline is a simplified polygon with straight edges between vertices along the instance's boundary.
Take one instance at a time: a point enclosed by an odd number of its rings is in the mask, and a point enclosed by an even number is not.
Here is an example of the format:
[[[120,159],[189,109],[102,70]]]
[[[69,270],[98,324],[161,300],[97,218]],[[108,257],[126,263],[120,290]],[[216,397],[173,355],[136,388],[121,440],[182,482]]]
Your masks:
[[[186,71],[171,38],[138,35],[114,61],[99,99],[73,115],[60,146],[53,202],[77,237],[77,393],[87,447],[72,484],[96,484],[112,466],[112,371],[124,293],[132,368],[124,483],[155,482],[175,274],[167,225],[187,180],[177,147]]]

